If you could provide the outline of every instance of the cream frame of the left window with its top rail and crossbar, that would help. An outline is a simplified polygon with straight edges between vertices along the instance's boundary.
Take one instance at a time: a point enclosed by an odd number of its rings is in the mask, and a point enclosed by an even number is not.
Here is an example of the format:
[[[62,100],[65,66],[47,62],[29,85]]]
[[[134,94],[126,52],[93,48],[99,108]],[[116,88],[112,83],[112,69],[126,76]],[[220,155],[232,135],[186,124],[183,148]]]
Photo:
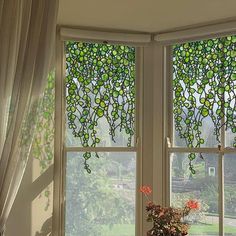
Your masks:
[[[56,119],[55,119],[55,160],[54,160],[54,204],[53,204],[53,235],[65,235],[65,167],[67,152],[136,152],[136,189],[143,184],[143,64],[144,48],[150,43],[150,35],[146,34],[120,34],[110,32],[95,32],[79,29],[59,27],[56,47]],[[125,44],[136,47],[136,137],[134,147],[66,147],[64,144],[65,130],[65,52],[64,42],[67,40]],[[151,80],[151,75],[149,75]],[[150,110],[151,112],[151,110]],[[149,115],[150,116],[150,115]],[[99,161],[99,160],[98,160]],[[136,194],[136,235],[143,235],[143,199]]]

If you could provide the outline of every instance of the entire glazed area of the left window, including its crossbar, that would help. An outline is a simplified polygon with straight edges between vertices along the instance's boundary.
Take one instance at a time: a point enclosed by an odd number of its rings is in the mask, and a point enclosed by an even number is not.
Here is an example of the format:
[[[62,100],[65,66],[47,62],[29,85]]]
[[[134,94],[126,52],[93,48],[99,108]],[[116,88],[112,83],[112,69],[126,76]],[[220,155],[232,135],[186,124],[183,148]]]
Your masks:
[[[134,236],[135,48],[65,42],[65,235]]]

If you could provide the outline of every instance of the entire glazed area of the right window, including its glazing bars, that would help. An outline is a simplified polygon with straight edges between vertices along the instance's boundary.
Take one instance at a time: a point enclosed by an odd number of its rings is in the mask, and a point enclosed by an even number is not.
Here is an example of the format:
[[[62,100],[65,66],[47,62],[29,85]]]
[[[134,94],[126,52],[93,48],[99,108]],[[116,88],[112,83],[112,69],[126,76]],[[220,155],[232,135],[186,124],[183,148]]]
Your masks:
[[[236,235],[236,36],[174,45],[171,204],[197,199],[190,235]]]

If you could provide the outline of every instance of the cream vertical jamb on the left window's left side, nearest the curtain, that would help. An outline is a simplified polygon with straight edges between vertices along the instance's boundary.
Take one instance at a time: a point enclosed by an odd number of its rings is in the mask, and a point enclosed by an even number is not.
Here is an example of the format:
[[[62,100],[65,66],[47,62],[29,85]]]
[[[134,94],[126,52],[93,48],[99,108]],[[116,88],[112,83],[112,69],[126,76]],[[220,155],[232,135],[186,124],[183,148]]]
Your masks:
[[[53,191],[53,235],[64,235],[64,43],[57,35],[56,84],[55,84],[55,140],[54,140],[54,191]]]

